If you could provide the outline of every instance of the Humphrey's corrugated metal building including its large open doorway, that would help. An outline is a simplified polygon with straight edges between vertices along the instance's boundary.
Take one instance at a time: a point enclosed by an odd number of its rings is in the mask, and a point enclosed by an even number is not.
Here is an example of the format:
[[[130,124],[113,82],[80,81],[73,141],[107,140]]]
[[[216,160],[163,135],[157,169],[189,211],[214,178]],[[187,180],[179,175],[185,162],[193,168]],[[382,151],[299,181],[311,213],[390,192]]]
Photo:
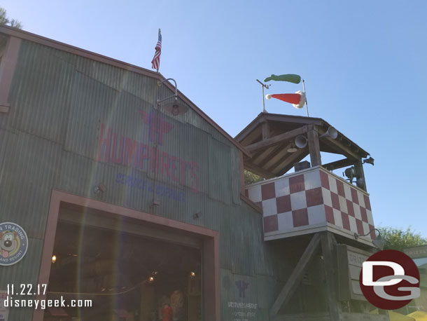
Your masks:
[[[93,301],[10,308],[8,320],[158,320],[162,295],[171,293],[181,293],[171,302],[174,320],[279,320],[274,304],[281,320],[337,320],[325,295],[335,286],[325,287],[329,254],[316,246],[292,298],[277,301],[320,236],[265,240],[280,226],[266,230],[272,213],[255,204],[265,199],[249,199],[258,187],[245,196],[253,154],[182,93],[182,112],[171,113],[173,83],[5,26],[0,53],[0,222],[28,236],[25,257],[0,266],[0,290],[48,284],[27,299]],[[262,193],[268,182],[258,184]],[[323,231],[323,249],[333,232],[370,250],[370,240],[350,240],[345,226],[319,222],[311,232]]]

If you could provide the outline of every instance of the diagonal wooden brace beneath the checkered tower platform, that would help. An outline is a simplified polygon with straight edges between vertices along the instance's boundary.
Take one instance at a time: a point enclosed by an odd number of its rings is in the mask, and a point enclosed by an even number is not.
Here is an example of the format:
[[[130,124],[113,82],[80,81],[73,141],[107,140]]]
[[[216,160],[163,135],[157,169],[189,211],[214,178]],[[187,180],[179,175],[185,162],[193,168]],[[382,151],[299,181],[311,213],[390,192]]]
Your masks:
[[[298,261],[297,265],[292,271],[292,274],[288,278],[288,281],[284,285],[283,289],[277,296],[276,301],[274,301],[273,306],[269,310],[270,320],[275,320],[277,313],[279,313],[280,308],[288,303],[290,298],[295,292],[295,289],[300,285],[302,277],[304,276],[304,272],[309,266],[311,260],[314,258],[314,254],[318,249],[318,245],[320,243],[320,235],[318,233],[314,234],[313,238],[304,253],[302,253],[302,257],[300,261]]]

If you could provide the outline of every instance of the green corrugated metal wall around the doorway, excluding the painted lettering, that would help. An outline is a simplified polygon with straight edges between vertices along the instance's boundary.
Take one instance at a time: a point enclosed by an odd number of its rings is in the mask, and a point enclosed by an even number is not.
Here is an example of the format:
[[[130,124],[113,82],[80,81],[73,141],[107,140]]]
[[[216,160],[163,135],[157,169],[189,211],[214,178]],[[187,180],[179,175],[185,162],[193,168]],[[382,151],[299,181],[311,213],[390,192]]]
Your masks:
[[[139,111],[152,111],[157,90],[154,78],[22,41],[10,113],[0,114],[0,221],[25,228],[29,250],[19,264],[0,268],[0,289],[7,283],[36,284],[52,189],[98,198],[93,188],[102,182],[107,191],[100,200],[151,211],[151,193],[116,181],[128,175],[152,182],[153,172],[98,162],[97,148],[102,124],[152,144]],[[171,94],[160,88],[160,97]],[[262,216],[240,200],[237,148],[192,109],[162,117],[173,132],[165,134],[159,149],[197,162],[198,193],[190,189],[191,177],[183,186],[158,177],[158,184],[185,193],[185,202],[159,196],[153,214],[220,231],[222,320],[237,318],[229,301],[257,303],[248,320],[268,320],[279,289],[274,270],[286,262],[264,243]],[[199,219],[196,212],[202,213]],[[250,284],[245,299],[237,280]],[[31,310],[25,311],[13,310],[9,320],[28,321]]]

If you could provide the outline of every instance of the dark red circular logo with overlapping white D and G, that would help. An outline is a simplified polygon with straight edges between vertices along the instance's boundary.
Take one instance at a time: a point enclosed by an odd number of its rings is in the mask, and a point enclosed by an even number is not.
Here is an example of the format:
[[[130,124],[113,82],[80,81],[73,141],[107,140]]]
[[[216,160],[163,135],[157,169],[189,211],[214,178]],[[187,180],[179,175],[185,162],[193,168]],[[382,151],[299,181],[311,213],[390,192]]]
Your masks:
[[[419,271],[405,253],[379,251],[363,262],[360,289],[373,306],[395,310],[420,296]]]

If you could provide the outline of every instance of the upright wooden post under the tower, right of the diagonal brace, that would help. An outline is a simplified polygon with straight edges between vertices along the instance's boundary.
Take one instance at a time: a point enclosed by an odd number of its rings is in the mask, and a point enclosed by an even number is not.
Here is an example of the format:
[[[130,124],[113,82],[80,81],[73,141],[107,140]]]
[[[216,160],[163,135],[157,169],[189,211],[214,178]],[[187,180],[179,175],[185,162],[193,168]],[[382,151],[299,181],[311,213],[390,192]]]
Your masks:
[[[340,321],[342,320],[342,311],[338,300],[337,256],[334,247],[336,240],[331,232],[322,232],[321,243],[325,263],[326,301],[329,307],[330,321]]]

